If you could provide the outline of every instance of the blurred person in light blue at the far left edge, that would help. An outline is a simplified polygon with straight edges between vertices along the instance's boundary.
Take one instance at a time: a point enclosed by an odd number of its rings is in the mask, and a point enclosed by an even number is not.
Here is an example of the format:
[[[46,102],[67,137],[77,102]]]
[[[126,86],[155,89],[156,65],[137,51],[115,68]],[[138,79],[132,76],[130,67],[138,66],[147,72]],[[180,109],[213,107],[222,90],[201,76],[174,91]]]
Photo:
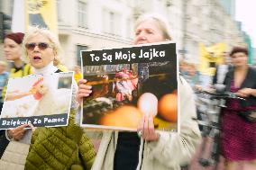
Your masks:
[[[0,112],[2,111],[2,107],[3,107],[3,103],[4,103],[4,100],[2,98],[2,91],[5,87],[5,85],[7,85],[8,77],[9,77],[9,73],[6,72],[6,66],[7,66],[7,64],[5,63],[5,61],[0,61],[0,92],[1,92]]]

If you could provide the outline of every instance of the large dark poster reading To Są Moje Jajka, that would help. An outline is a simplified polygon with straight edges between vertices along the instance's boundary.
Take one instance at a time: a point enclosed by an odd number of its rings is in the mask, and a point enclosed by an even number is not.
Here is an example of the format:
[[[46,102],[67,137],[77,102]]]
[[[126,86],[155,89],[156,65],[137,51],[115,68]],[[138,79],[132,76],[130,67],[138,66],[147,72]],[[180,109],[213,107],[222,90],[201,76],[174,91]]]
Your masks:
[[[81,60],[93,91],[84,98],[82,127],[137,130],[152,116],[156,130],[178,130],[175,43],[81,51]]]

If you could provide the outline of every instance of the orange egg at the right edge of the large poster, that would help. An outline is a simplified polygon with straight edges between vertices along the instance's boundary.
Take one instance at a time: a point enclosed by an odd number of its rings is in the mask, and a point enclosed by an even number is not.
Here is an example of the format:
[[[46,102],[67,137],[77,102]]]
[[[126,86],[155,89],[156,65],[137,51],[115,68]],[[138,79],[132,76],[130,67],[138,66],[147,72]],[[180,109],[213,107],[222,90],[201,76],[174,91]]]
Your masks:
[[[177,122],[178,96],[177,94],[165,94],[160,98],[159,113],[167,121]]]

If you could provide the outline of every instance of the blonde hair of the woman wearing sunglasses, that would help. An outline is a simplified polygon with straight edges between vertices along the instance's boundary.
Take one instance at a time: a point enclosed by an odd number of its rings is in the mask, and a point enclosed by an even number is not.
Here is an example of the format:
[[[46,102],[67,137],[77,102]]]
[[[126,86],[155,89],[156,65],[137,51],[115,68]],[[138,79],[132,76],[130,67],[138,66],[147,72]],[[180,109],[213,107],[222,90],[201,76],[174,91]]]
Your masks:
[[[31,39],[34,35],[41,34],[42,36],[46,37],[48,40],[50,40],[50,46],[53,49],[53,52],[55,54],[54,59],[59,60],[60,53],[62,52],[62,49],[60,47],[59,39],[58,37],[45,28],[40,28],[39,26],[32,26],[29,28],[29,30],[25,33],[25,36],[23,38],[23,56],[22,59],[24,62],[29,63],[28,53],[27,49],[25,47],[26,43],[29,39]]]

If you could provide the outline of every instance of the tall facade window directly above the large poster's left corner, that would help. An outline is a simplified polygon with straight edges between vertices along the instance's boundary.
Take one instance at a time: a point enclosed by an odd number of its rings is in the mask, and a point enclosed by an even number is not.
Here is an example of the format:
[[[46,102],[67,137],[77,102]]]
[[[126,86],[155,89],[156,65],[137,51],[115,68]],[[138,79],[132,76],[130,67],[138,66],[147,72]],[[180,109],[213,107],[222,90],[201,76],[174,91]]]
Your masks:
[[[78,1],[78,27],[87,28],[87,4]]]

